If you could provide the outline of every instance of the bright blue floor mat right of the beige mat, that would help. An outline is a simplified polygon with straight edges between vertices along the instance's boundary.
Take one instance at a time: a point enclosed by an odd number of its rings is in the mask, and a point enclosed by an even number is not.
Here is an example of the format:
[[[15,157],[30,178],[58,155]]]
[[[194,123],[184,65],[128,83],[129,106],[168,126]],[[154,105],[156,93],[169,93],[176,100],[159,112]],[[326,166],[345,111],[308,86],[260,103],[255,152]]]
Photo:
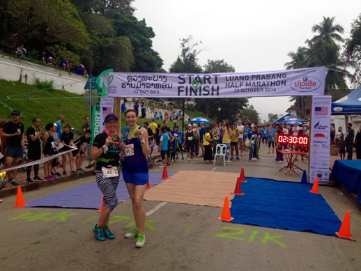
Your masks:
[[[231,223],[251,224],[290,231],[335,235],[341,221],[321,194],[312,194],[310,184],[246,178],[243,196],[235,196]]]

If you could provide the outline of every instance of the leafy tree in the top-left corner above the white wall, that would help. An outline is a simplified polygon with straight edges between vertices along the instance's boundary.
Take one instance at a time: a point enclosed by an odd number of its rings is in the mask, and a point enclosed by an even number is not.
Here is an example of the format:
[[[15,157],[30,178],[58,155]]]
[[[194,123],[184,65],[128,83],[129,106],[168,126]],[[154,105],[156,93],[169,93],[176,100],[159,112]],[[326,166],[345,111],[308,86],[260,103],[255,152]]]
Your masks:
[[[75,53],[89,48],[86,28],[68,0],[10,0],[5,8],[8,35],[1,36],[1,45],[10,52],[21,43],[41,50],[64,42]]]

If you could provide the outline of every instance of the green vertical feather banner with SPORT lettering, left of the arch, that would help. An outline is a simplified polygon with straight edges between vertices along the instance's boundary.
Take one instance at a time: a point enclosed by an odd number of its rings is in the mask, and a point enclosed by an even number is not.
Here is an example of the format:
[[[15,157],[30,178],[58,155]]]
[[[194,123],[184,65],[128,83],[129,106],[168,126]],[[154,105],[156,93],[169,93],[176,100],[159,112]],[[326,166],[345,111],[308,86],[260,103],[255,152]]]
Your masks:
[[[114,69],[108,69],[100,72],[96,79],[96,84],[98,85],[98,95],[100,97],[107,97],[107,87],[104,84],[102,79],[103,75],[106,75],[108,72],[113,72]],[[95,139],[95,137],[100,134],[101,123],[104,120],[100,119],[100,99],[98,102],[93,106],[91,111],[91,142]]]

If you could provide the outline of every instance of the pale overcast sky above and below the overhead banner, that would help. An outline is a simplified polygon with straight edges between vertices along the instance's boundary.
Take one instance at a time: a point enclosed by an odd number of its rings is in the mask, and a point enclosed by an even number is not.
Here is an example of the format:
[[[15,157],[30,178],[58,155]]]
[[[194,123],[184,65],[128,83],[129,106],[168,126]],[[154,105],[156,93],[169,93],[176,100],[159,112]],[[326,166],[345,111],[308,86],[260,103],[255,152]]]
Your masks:
[[[180,38],[193,36],[205,51],[199,63],[224,59],[236,72],[284,70],[287,54],[312,38],[312,26],[336,17],[349,36],[351,23],[361,13],[361,1],[241,1],[241,0],[135,0],[135,16],[153,27],[153,49],[169,70],[181,52]],[[252,98],[261,120],[268,113],[285,114],[289,99]]]

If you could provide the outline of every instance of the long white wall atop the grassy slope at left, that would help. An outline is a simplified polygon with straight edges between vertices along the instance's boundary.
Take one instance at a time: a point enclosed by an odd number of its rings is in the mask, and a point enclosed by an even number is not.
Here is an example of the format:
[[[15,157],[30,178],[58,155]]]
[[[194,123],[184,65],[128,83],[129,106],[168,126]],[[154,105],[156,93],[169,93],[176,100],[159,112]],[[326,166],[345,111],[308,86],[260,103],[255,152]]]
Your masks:
[[[82,76],[0,54],[0,79],[33,84],[35,78],[52,79],[55,89],[84,94],[86,79]]]

